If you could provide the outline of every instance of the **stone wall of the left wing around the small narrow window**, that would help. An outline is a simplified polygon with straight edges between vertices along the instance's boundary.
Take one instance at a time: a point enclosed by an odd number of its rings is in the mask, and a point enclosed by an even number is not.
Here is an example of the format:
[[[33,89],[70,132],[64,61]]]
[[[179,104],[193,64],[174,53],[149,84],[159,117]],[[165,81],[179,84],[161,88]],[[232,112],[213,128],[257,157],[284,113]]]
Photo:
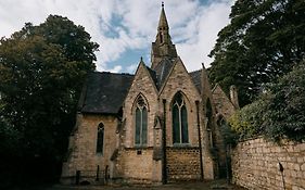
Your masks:
[[[103,153],[97,153],[97,135],[100,123],[104,125]],[[101,172],[110,166],[115,150],[117,119],[106,115],[77,115],[77,124],[69,137],[67,161],[63,163],[62,182],[75,183],[76,170],[90,175],[94,181],[98,166]],[[101,176],[102,178],[104,176]]]

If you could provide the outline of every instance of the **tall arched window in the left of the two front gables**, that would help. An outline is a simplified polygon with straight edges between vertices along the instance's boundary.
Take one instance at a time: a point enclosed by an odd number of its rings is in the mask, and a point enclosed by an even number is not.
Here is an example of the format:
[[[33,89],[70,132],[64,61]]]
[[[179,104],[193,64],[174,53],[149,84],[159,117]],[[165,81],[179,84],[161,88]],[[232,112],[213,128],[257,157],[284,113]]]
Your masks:
[[[136,105],[136,145],[148,143],[148,107],[144,99],[140,96]]]

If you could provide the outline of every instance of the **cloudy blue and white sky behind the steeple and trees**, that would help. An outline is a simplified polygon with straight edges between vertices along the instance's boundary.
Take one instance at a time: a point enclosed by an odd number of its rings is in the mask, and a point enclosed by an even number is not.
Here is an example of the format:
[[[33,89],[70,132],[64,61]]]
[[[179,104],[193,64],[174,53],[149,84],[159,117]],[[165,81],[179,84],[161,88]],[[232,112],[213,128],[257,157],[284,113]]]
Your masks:
[[[209,67],[208,53],[229,23],[234,0],[163,0],[171,41],[189,72]],[[100,45],[97,69],[135,73],[140,58],[150,66],[162,0],[0,0],[0,37],[48,15],[66,16]]]

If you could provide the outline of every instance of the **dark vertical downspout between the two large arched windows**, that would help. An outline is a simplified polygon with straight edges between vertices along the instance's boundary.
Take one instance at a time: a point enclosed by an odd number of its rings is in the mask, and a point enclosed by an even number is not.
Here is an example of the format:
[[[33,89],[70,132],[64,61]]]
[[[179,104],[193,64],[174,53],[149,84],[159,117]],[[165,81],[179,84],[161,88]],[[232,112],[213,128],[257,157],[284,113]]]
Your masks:
[[[167,183],[167,169],[166,169],[166,100],[163,99],[163,132],[162,132],[162,142],[163,142],[163,165],[162,165],[162,183]]]

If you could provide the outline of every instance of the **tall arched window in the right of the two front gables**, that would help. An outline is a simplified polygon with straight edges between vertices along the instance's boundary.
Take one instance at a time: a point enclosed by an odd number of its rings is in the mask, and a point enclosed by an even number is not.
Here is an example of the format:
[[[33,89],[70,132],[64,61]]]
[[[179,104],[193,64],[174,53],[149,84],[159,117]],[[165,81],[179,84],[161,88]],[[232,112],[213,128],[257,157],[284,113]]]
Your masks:
[[[174,97],[173,101],[173,142],[188,143],[188,111],[181,92]]]

